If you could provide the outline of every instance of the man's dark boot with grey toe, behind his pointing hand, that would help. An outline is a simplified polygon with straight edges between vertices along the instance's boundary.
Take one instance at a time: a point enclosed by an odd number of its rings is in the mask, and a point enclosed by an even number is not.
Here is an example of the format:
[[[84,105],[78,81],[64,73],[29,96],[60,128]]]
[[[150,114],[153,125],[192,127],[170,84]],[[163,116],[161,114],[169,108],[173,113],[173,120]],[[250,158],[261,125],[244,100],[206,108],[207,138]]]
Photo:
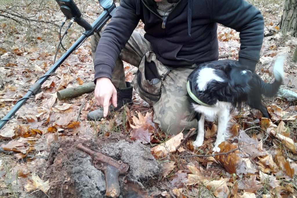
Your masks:
[[[124,106],[127,103],[132,102],[132,91],[133,87],[131,87],[130,82],[126,82],[127,88],[117,88],[117,107],[115,108],[113,105],[111,105],[108,108],[109,111],[116,111],[118,109],[121,109],[122,106]],[[94,111],[91,111],[87,114],[88,120],[101,120],[103,118],[103,107],[100,107],[99,109],[96,109]]]

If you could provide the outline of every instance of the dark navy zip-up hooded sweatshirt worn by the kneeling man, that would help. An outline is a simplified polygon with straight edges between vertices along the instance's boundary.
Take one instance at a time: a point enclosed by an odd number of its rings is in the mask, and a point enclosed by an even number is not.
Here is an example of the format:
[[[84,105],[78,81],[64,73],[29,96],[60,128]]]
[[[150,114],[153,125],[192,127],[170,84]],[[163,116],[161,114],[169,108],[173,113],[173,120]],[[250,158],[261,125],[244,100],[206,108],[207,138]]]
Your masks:
[[[255,70],[264,36],[260,11],[243,0],[180,0],[165,23],[154,0],[121,0],[99,40],[94,60],[95,79],[111,79],[115,61],[139,20],[144,37],[157,59],[170,67],[184,67],[217,60],[217,23],[240,32],[238,60]]]

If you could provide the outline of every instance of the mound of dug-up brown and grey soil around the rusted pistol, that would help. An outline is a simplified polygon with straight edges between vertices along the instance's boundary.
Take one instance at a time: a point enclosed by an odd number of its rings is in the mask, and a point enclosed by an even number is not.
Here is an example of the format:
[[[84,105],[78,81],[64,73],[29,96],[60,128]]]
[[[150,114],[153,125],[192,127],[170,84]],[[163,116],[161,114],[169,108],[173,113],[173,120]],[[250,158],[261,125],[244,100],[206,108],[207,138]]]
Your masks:
[[[120,197],[131,197],[131,192],[127,192],[127,185],[131,186],[131,182],[142,186],[142,190],[139,188],[138,192],[132,193],[135,194],[132,197],[146,197],[146,191],[153,186],[150,181],[159,178],[159,164],[149,147],[139,142],[111,136],[96,141],[66,139],[52,145],[48,164],[43,167],[43,178],[50,180],[48,197],[105,197],[104,174],[92,164],[91,156],[76,148],[78,143],[130,166],[127,175],[119,177]],[[46,197],[40,192],[35,196]]]

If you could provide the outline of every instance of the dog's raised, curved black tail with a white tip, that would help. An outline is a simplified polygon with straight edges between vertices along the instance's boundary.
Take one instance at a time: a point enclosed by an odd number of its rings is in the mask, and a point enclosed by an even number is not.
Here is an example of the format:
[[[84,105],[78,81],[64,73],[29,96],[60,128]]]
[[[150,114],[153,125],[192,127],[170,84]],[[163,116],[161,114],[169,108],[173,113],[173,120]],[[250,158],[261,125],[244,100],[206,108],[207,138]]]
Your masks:
[[[284,61],[285,56],[280,56],[274,63],[273,73],[274,73],[274,82],[273,83],[263,83],[261,86],[262,93],[266,97],[273,97],[277,94],[279,87],[284,80]]]

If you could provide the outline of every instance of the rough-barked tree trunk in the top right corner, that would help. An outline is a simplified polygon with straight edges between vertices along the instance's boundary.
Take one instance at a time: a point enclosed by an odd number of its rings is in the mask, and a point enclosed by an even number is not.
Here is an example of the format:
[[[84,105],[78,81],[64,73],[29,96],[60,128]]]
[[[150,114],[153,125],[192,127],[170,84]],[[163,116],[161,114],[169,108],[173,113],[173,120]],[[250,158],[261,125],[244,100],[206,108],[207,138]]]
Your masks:
[[[283,34],[290,32],[297,37],[297,0],[285,0],[280,30]]]

